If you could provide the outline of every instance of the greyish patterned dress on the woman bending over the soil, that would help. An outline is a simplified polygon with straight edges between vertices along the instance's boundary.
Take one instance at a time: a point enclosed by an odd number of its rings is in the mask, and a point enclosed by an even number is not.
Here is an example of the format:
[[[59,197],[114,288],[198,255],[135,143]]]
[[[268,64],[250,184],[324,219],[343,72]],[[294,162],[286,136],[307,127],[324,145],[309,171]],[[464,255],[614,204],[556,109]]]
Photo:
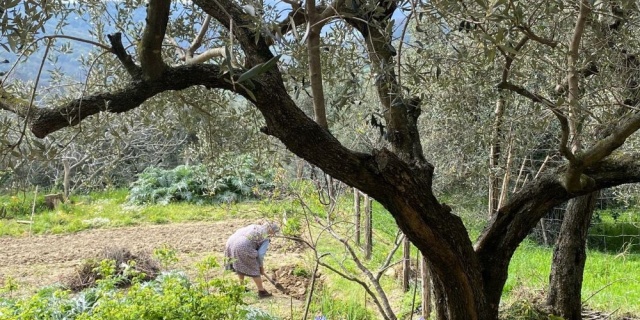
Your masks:
[[[236,231],[224,248],[226,269],[249,277],[260,276],[258,248],[268,240],[264,225],[252,224]]]

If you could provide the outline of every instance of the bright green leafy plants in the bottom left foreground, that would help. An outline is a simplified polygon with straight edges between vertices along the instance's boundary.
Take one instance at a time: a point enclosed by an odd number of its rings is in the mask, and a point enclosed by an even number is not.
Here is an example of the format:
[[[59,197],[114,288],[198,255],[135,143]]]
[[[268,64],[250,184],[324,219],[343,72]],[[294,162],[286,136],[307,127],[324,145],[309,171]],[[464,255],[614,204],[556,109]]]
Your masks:
[[[209,257],[200,266],[202,274],[218,263]],[[28,298],[0,298],[0,319],[274,319],[245,307],[244,288],[235,279],[199,275],[192,282],[173,272],[118,290],[112,285],[117,281],[112,262],[100,263],[100,268],[111,276],[74,296],[60,288],[45,288]]]

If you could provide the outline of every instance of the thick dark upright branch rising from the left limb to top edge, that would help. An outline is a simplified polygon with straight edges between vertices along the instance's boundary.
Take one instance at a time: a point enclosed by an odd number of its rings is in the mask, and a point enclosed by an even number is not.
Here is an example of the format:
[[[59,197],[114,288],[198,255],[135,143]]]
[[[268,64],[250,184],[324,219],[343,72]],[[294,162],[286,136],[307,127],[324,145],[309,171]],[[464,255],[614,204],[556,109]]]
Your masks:
[[[171,0],[149,1],[147,24],[142,33],[138,53],[145,80],[160,78],[167,65],[162,61],[162,42],[167,31]]]

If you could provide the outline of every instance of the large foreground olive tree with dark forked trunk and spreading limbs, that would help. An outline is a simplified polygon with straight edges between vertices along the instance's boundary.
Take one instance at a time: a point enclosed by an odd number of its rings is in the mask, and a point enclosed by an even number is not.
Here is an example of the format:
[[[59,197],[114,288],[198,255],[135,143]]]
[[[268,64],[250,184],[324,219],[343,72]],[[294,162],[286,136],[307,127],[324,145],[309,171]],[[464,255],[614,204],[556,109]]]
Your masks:
[[[573,128],[583,124],[584,119],[598,118],[590,117],[597,113],[586,112],[578,90],[582,65],[589,52],[581,46],[585,21],[589,21],[588,11],[593,5],[589,1],[576,1],[566,7],[561,5],[562,1],[540,1],[534,5],[500,0],[477,0],[470,4],[335,0],[307,3],[304,7],[294,1],[285,3],[292,10],[283,17],[263,15],[259,2],[193,0],[189,12],[203,12],[211,17],[207,19],[212,24],[215,41],[205,51],[190,46],[193,50],[174,63],[163,50],[163,46],[170,43],[167,26],[175,19],[171,15],[171,1],[149,1],[135,48],[123,45],[121,33],[108,35],[109,44],[100,44],[120,61],[128,80],[113,88],[103,88],[102,92],[37,108],[32,103],[25,105],[3,97],[0,108],[21,115],[31,133],[44,138],[100,112],[131,111],[169,91],[197,86],[243,97],[264,118],[262,133],[279,139],[291,152],[334,178],[369,194],[389,211],[429,262],[440,319],[496,319],[509,261],[550,208],[602,188],[640,180],[639,155],[633,150],[619,150],[640,128],[640,115],[633,111],[615,119],[608,118],[611,120],[601,123],[608,128],[606,134],[585,141],[580,150],[571,148],[572,135],[579,132]],[[125,1],[125,5],[141,4]],[[308,23],[307,10],[311,7],[314,8],[311,21],[339,21],[362,39],[368,58],[366,68],[375,78],[389,148],[366,152],[350,149],[325,126],[307,116],[292,99],[286,85],[287,69],[282,68],[282,64],[295,57],[280,55],[279,45],[283,38],[305,33],[305,30],[314,29],[317,35],[316,25]],[[534,74],[543,73],[550,66],[561,70],[556,71],[562,74],[557,82],[568,95],[551,96],[551,90],[536,85],[536,78],[531,74],[510,75],[510,69],[504,68],[508,77],[499,79],[497,88],[534,102],[544,110],[541,112],[554,117],[558,124],[557,149],[565,163],[544,171],[506,200],[475,243],[462,220],[438,199],[433,189],[434,170],[445,164],[427,160],[418,126],[420,115],[432,112],[431,98],[409,94],[398,81],[396,66],[402,53],[392,39],[394,13],[412,11],[420,15],[426,7],[435,8],[441,17],[450,13],[459,15],[464,22],[463,29],[481,30],[482,38],[471,39],[469,44],[486,47],[483,55],[489,57],[499,54],[516,60],[521,50],[550,47],[552,43],[562,43],[566,49],[551,52],[549,64],[526,58],[523,61],[530,62],[529,70]],[[629,14],[637,14],[635,7],[630,6],[628,10]],[[545,29],[545,24],[539,24],[544,15],[552,15],[555,21],[571,27]],[[444,32],[451,31],[454,25],[458,24],[449,24]],[[324,36],[322,32],[320,35]],[[485,41],[492,45],[488,46]],[[600,72],[616,71],[602,68]],[[429,80],[424,81],[427,85]],[[565,83],[566,89],[563,89]],[[619,90],[610,89],[602,96],[603,99],[606,96],[607,105],[633,110],[634,105],[627,103],[632,100],[616,99]],[[531,117],[529,121],[537,119]],[[430,124],[435,125],[424,125]]]

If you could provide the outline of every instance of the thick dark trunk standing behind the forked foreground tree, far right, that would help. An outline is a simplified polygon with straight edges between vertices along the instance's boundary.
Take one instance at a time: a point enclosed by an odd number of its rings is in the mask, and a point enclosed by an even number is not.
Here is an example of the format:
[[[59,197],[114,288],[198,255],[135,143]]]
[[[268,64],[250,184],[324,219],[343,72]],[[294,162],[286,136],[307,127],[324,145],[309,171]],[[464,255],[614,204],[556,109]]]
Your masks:
[[[587,230],[598,192],[569,200],[553,252],[547,304],[566,320],[582,319],[582,275],[587,260]]]

